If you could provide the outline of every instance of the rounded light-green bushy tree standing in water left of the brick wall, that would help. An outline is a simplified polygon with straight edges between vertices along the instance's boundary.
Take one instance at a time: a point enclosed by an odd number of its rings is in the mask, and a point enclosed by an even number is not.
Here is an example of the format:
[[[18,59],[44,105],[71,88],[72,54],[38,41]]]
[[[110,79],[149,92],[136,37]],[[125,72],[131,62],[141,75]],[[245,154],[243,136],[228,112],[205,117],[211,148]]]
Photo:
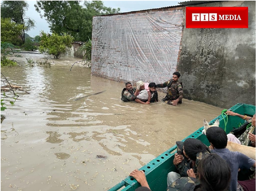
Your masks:
[[[61,53],[65,53],[69,48],[72,47],[74,38],[71,35],[64,34],[62,36],[53,33],[51,36],[47,36],[43,33],[39,52],[52,54],[54,58],[60,58]]]

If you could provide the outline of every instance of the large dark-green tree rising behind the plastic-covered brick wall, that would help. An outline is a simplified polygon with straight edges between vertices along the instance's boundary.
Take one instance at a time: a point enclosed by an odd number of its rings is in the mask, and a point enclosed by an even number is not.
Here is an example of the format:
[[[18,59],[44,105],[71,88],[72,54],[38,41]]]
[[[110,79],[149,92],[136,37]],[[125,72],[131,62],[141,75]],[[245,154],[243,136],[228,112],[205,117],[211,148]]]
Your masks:
[[[35,10],[44,16],[51,32],[70,34],[75,41],[87,41],[91,38],[93,16],[115,14],[120,8],[105,7],[102,1],[37,1]],[[41,14],[41,10],[44,14]],[[88,38],[89,37],[89,38]]]

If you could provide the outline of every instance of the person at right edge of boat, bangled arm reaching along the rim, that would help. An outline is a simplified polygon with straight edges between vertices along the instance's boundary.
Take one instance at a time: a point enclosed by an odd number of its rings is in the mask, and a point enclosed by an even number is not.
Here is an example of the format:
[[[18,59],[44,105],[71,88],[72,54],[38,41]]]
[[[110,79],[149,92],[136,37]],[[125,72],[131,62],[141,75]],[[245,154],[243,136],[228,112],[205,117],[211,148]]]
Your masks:
[[[236,136],[231,133],[227,134],[228,141],[235,142],[240,145],[255,147],[255,114],[253,115],[253,117],[247,115],[240,115],[233,111],[227,111],[226,114],[231,116],[238,116],[241,119],[244,119],[249,123],[252,123],[252,126],[246,129],[245,132],[241,134],[240,137],[238,138],[236,138]]]

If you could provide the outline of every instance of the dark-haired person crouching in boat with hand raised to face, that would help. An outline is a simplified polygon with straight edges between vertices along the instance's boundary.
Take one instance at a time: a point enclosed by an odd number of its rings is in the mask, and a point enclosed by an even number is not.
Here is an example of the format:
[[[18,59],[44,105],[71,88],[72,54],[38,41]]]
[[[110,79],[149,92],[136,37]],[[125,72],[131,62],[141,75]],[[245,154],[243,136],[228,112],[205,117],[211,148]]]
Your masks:
[[[196,154],[210,153],[208,147],[202,141],[188,138],[184,142],[177,141],[177,153],[174,155],[173,164],[179,173],[169,172],[167,186],[170,186],[180,177],[187,177],[197,173]]]

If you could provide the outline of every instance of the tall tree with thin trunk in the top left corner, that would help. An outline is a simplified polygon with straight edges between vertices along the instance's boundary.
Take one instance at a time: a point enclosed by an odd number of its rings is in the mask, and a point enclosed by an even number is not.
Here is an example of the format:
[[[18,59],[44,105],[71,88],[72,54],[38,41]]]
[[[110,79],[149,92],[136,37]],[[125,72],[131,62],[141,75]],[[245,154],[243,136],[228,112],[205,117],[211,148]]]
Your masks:
[[[11,18],[15,23],[23,25],[20,34],[23,43],[25,43],[25,31],[29,31],[35,26],[35,21],[26,16],[28,8],[29,4],[26,1],[3,1],[1,3],[1,17]]]

